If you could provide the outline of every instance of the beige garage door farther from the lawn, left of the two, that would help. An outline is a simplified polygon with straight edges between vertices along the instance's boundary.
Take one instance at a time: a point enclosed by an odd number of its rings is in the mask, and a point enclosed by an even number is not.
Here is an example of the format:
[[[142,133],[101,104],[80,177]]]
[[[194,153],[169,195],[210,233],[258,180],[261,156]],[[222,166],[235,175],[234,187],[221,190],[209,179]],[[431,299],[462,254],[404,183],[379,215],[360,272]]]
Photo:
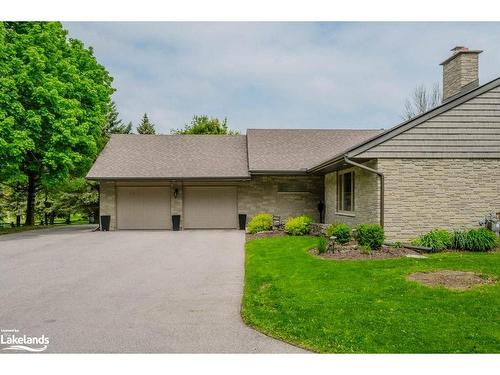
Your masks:
[[[118,229],[170,229],[170,188],[117,188]]]

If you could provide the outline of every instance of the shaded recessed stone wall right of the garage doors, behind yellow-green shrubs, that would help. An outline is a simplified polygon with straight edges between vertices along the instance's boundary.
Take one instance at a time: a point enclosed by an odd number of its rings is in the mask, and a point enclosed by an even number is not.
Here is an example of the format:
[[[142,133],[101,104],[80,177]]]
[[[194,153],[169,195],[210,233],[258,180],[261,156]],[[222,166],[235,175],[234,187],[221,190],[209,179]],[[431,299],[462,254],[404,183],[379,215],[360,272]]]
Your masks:
[[[305,191],[280,191],[298,185]],[[324,199],[323,192],[322,176],[254,176],[238,186],[238,213],[247,214],[247,221],[259,213],[280,215],[283,220],[309,215],[319,221],[318,203]]]

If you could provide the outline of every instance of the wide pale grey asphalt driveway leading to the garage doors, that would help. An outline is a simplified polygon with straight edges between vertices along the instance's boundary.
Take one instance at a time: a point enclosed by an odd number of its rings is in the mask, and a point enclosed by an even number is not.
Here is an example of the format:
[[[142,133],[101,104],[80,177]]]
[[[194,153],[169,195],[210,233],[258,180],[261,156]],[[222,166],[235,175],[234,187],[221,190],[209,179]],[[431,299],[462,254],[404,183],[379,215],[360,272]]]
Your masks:
[[[243,244],[235,230],[0,236],[0,329],[48,336],[52,353],[301,352],[242,322]]]

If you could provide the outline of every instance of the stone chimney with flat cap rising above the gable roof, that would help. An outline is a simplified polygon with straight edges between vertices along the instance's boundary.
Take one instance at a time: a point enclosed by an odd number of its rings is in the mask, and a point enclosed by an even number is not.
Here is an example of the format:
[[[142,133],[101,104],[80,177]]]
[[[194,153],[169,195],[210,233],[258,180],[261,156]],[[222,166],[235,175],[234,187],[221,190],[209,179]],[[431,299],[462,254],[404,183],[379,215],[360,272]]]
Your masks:
[[[479,54],[483,51],[455,47],[443,66],[443,102],[479,86]]]

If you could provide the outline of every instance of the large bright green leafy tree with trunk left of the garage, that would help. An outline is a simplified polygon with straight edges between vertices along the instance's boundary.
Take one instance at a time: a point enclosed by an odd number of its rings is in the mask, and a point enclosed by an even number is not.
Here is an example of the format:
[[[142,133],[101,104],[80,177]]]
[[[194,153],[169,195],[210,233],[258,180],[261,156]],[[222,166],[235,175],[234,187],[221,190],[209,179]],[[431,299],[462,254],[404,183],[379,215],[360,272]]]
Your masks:
[[[112,78],[59,22],[0,23],[0,180],[35,194],[83,175],[105,142]]]

